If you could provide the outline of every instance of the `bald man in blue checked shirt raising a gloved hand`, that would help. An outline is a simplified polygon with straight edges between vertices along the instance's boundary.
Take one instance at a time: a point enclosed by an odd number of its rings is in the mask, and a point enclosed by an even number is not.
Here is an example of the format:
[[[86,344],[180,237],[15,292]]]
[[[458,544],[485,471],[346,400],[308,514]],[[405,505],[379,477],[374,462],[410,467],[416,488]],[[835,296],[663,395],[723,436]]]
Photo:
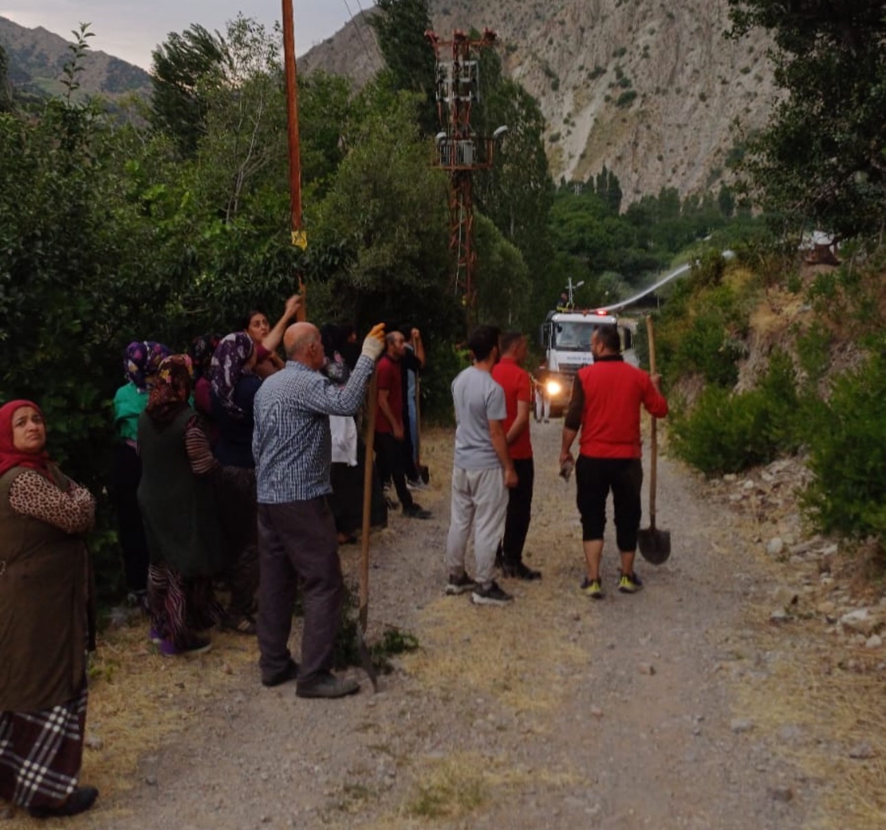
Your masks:
[[[331,671],[344,592],[326,503],[332,492],[329,416],[356,413],[384,343],[384,326],[377,325],[347,384],[337,386],[319,371],[326,360],[320,331],[297,322],[284,334],[285,367],[255,395],[261,682],[297,680],[299,697],[343,697],[360,689],[356,680]],[[288,646],[299,578],[305,605],[300,667]]]

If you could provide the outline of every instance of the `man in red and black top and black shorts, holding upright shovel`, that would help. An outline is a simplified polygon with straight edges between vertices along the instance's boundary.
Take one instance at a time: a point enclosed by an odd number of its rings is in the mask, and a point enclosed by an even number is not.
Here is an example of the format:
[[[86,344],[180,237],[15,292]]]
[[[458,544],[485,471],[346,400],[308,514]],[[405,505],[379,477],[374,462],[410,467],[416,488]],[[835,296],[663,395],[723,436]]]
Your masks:
[[[591,337],[594,363],[579,371],[563,425],[560,463],[571,461],[572,442],[581,431],[579,461],[575,466],[581,538],[587,560],[587,578],[581,590],[602,599],[600,559],[606,499],[612,491],[616,541],[621,554],[618,590],[636,593],[642,587],[633,572],[640,530],[640,488],[643,482],[640,407],[650,415],[667,415],[667,401],[659,377],[649,376],[622,360],[615,326],[598,326]]]

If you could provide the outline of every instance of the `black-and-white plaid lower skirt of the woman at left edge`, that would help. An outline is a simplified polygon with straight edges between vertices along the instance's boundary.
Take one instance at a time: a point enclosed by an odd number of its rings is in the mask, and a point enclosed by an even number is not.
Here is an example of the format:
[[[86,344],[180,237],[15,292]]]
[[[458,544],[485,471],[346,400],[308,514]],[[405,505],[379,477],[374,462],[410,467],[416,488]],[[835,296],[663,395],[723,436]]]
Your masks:
[[[19,807],[58,807],[77,788],[86,728],[86,680],[66,703],[0,712],[0,798]]]

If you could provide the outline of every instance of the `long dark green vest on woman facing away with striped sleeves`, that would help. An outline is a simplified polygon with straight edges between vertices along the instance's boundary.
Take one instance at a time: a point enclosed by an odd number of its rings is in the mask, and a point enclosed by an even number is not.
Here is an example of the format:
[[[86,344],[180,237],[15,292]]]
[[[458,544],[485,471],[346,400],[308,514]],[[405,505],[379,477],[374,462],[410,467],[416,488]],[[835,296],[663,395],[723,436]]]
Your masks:
[[[138,419],[138,505],[151,562],[184,577],[211,576],[226,565],[213,477],[195,476],[184,448],[184,427],[194,415],[187,407],[162,431],[146,412]]]

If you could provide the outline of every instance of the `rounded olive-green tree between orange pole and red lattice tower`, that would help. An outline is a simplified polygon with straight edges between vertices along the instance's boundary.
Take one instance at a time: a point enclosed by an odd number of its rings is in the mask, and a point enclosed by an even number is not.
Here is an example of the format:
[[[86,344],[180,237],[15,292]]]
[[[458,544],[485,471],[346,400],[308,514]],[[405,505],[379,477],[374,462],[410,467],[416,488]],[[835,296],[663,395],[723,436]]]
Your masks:
[[[357,322],[408,318],[448,334],[447,182],[428,164],[415,97],[370,84],[355,114],[346,157],[318,207],[318,244],[344,244],[350,254],[329,296]]]

